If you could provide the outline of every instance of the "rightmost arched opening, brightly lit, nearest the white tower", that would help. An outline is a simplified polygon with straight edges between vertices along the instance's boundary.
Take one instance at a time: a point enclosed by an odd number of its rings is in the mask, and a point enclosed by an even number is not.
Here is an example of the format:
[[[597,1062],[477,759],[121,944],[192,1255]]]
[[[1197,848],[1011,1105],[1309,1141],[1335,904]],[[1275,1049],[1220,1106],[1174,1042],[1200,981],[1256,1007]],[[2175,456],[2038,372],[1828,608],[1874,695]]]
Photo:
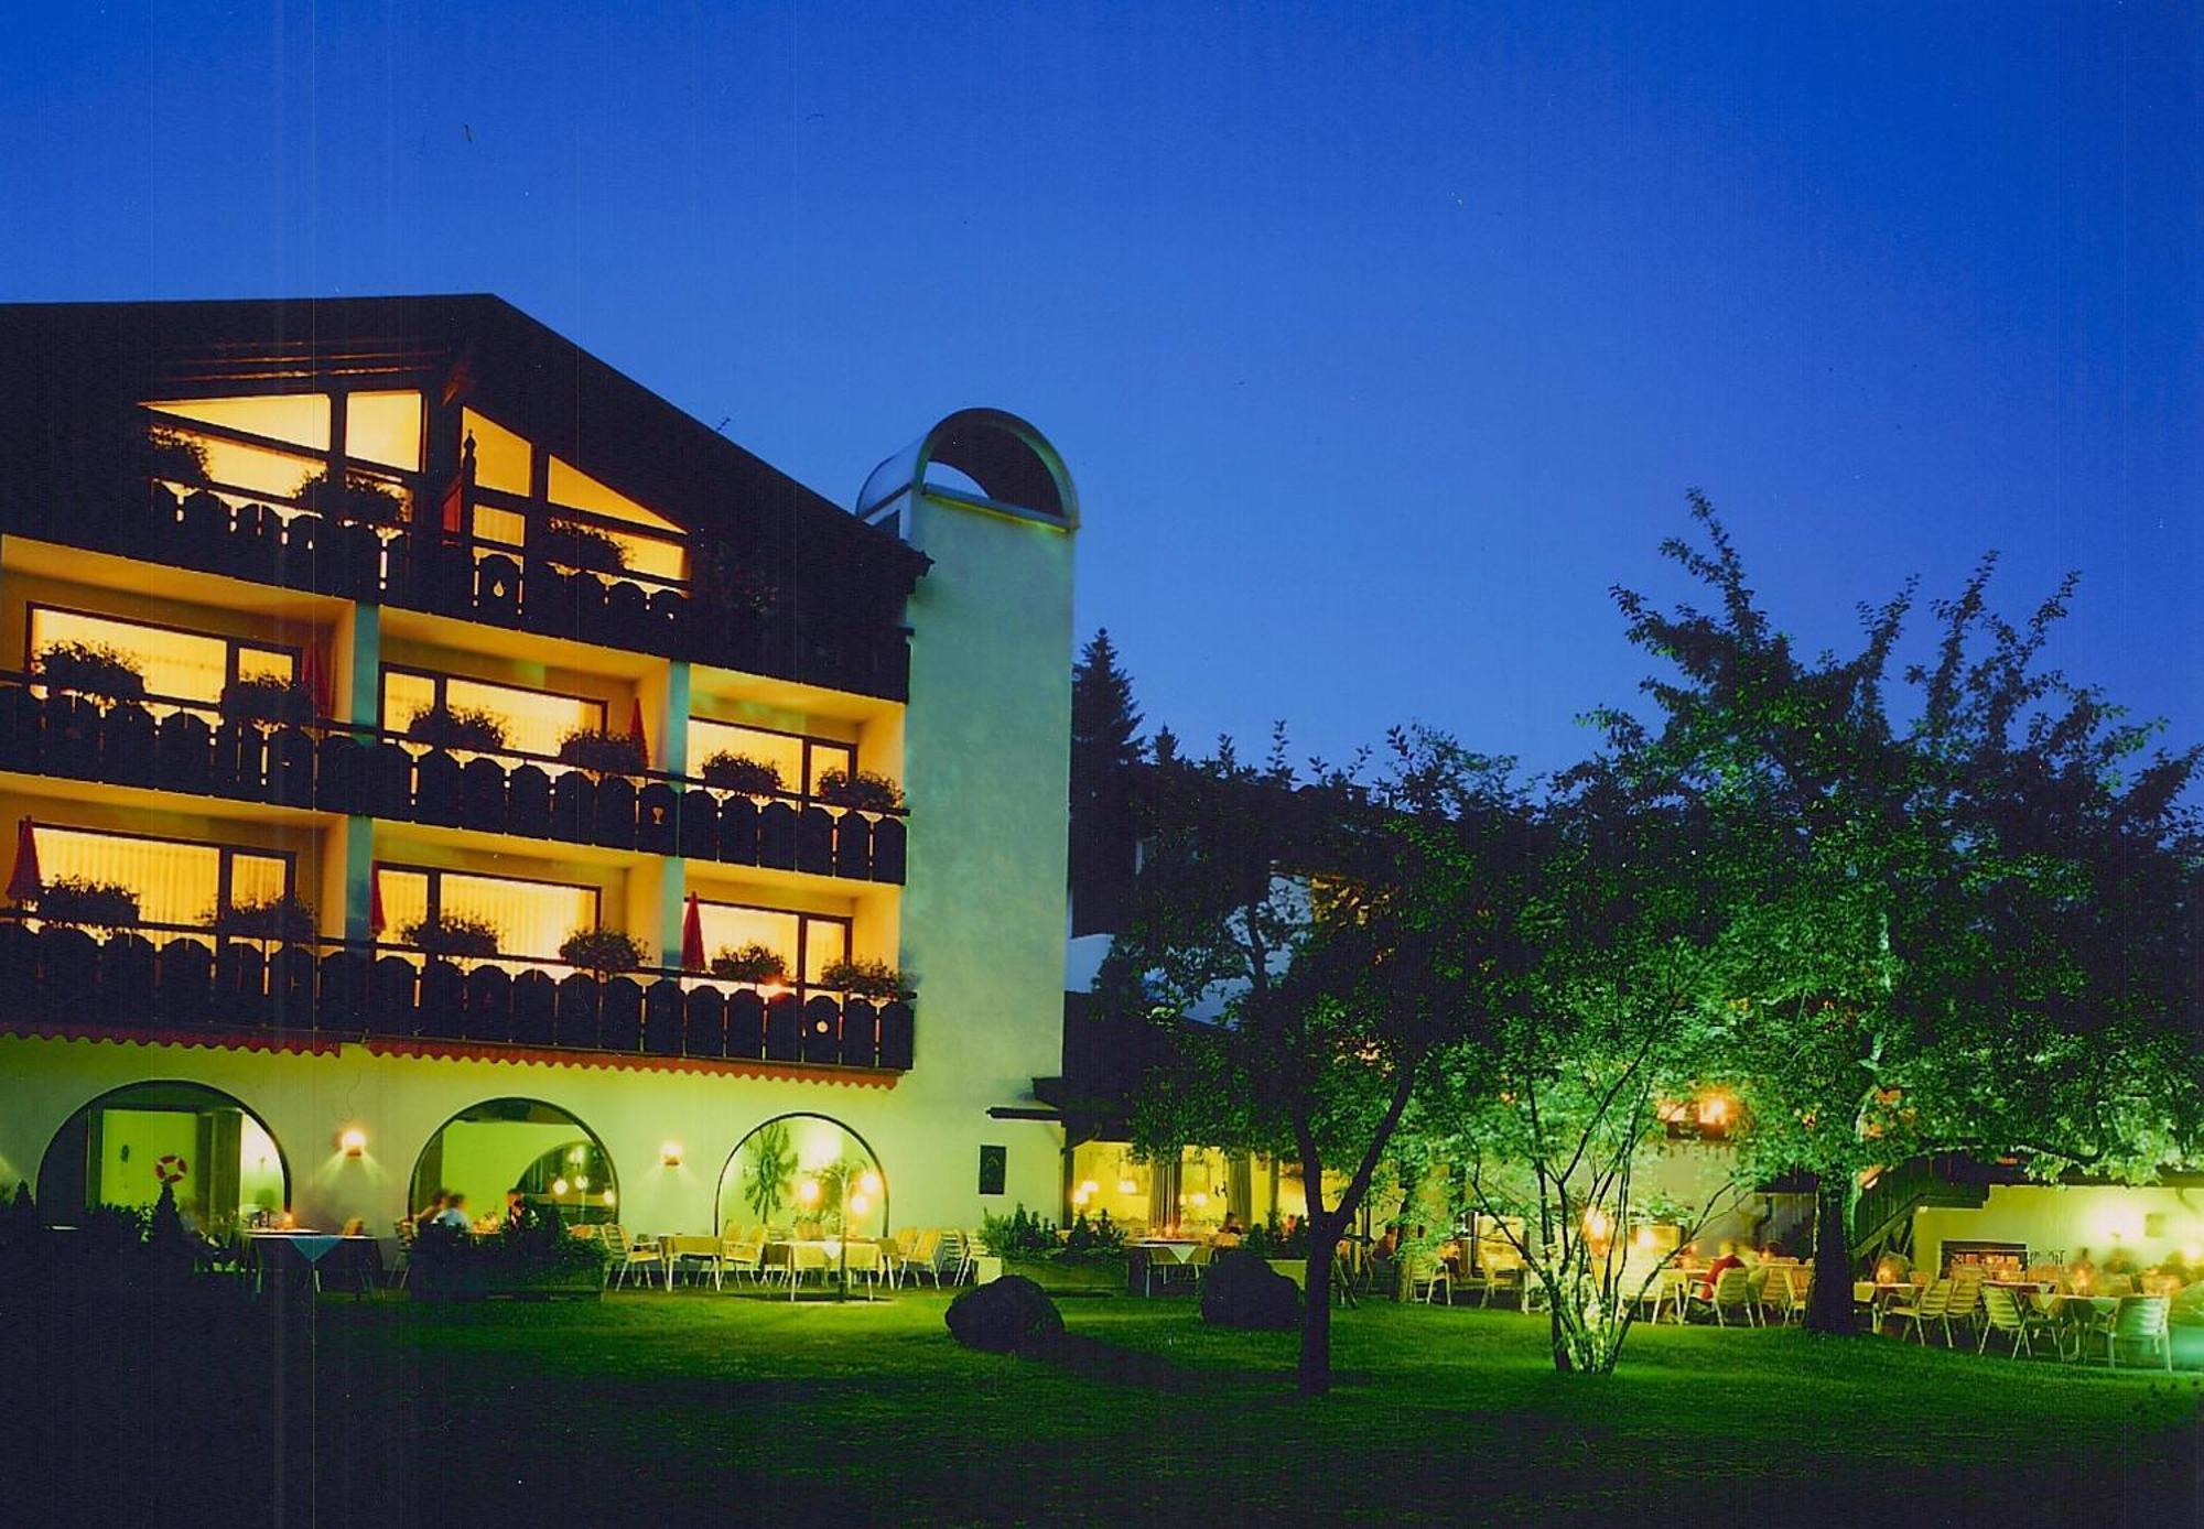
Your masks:
[[[780,1236],[888,1234],[888,1170],[855,1130],[827,1115],[776,1115],[719,1172],[719,1229]]]

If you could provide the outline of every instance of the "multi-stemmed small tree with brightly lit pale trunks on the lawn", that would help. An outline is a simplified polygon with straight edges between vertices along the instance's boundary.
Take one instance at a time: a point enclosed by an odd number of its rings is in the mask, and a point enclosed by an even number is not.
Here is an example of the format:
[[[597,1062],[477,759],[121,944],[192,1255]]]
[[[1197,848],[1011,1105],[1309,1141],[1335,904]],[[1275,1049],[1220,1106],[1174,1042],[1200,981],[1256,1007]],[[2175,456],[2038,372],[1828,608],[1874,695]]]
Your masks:
[[[1554,1366],[1605,1375],[1640,1302],[1675,1251],[1651,1223],[1693,1240],[1739,1192],[1724,1176],[1690,1196],[1646,1192],[1644,1152],[1664,1104],[1708,1064],[1708,899],[1690,802],[1644,800],[1593,760],[1536,813],[1534,853],[1512,877],[1437,855],[1459,917],[1512,921],[1523,952],[1514,1002],[1439,1058],[1406,1126],[1424,1157],[1455,1165],[1461,1210],[1521,1258],[1545,1295]],[[1501,943],[1488,928],[1485,943]]]

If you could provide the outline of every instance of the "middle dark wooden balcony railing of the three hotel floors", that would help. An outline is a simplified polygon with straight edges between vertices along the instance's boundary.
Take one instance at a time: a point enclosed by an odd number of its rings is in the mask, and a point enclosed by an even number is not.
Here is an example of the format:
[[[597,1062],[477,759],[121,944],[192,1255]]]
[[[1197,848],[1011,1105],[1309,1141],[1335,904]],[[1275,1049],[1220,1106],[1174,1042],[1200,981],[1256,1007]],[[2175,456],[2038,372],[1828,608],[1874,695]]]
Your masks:
[[[223,720],[196,701],[97,701],[0,672],[0,769],[599,844],[855,881],[904,879],[904,815],[752,798],[540,753],[450,753],[348,723]]]

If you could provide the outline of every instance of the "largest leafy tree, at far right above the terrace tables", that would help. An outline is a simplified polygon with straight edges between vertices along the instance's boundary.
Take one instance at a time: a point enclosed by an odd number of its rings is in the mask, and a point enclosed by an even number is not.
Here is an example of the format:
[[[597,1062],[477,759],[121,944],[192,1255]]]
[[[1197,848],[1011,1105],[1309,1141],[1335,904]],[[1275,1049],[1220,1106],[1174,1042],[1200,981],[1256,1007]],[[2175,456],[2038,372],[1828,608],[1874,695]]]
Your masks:
[[[1697,494],[1693,516],[1708,546],[1662,551],[1715,610],[1616,590],[1675,676],[1644,683],[1657,729],[1607,723],[1620,769],[1706,806],[1710,1071],[1743,1104],[1746,1165],[1814,1181],[1809,1326],[1843,1333],[1862,1176],[1935,1150],[2122,1172],[2175,1150],[2197,756],[2127,769],[2151,729],[2041,668],[2072,582],[2012,628],[1988,615],[1986,562],[1935,606],[1904,718],[1889,672],[1911,584],[1862,606],[1856,654],[1803,659]]]

